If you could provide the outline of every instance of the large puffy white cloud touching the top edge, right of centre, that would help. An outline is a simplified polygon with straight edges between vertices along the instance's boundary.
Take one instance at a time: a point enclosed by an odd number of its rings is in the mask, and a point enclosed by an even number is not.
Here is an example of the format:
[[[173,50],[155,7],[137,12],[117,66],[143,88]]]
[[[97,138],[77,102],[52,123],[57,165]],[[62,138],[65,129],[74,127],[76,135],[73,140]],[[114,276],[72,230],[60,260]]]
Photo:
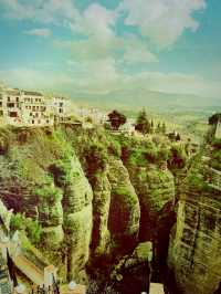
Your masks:
[[[125,24],[140,29],[162,46],[177,41],[186,29],[199,27],[192,13],[206,8],[204,0],[123,0],[117,11],[126,12]]]

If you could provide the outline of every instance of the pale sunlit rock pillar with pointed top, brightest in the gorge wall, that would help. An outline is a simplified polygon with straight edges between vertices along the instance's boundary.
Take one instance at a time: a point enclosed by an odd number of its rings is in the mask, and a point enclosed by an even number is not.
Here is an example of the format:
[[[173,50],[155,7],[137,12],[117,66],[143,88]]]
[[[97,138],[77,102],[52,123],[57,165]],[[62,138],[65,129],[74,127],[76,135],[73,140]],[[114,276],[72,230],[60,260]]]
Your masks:
[[[80,161],[69,162],[63,183],[64,230],[67,242],[69,281],[84,272],[88,260],[92,234],[92,188],[85,178]]]

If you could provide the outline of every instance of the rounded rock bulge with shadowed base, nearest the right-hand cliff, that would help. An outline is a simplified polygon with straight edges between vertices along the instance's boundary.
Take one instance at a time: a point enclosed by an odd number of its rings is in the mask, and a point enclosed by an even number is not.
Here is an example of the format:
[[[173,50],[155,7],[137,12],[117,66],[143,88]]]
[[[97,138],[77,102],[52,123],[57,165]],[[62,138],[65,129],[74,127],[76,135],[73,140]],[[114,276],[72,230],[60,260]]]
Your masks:
[[[168,207],[169,211],[173,209],[173,176],[169,170],[161,170],[155,165],[129,168],[129,172],[141,207],[139,240],[154,240],[164,208]]]

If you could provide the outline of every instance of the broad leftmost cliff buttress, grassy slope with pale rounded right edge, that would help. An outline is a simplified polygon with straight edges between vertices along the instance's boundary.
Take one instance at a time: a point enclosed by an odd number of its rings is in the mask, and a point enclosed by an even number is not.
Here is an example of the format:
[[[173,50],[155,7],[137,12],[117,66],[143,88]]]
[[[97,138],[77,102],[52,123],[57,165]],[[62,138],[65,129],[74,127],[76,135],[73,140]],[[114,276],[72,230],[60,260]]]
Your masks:
[[[40,249],[81,280],[88,260],[93,192],[60,129],[1,129],[0,197],[14,212],[39,221]],[[2,147],[3,148],[3,147]],[[3,149],[2,149],[3,150]]]

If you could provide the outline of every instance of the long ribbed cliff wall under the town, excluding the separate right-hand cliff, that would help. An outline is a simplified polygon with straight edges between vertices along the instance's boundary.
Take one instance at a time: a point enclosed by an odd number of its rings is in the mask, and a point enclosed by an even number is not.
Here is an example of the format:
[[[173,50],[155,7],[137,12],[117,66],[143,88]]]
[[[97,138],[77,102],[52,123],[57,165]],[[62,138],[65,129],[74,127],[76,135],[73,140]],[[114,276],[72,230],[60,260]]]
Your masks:
[[[133,291],[145,291],[150,249],[144,244],[152,242],[155,264],[165,261],[161,244],[173,223],[164,141],[73,125],[1,128],[0,198],[14,211],[12,229],[27,232],[62,281],[120,290],[130,272]]]

